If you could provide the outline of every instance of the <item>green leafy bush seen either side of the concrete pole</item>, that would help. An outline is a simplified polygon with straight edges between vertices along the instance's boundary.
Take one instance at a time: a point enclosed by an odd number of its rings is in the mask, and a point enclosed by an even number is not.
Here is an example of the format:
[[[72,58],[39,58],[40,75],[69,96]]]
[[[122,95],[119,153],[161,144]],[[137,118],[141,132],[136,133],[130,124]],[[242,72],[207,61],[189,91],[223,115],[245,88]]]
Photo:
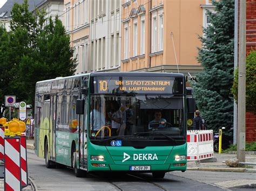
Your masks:
[[[231,89],[234,99],[238,101],[238,68],[234,72],[234,83]],[[246,111],[256,114],[256,51],[246,57]]]

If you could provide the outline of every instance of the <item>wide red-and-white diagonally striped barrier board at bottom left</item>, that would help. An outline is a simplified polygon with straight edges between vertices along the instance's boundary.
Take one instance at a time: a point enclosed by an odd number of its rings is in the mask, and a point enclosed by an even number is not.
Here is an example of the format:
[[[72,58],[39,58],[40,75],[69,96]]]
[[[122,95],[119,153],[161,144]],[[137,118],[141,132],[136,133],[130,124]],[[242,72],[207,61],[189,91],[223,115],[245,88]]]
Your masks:
[[[22,190],[21,138],[4,138],[4,190]]]

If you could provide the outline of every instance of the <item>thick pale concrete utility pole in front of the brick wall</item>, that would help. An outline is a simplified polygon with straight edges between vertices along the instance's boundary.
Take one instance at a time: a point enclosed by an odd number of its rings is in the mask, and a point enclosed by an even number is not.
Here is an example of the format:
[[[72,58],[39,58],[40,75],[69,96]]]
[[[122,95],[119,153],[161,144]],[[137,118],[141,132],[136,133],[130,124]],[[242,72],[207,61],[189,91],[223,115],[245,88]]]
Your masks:
[[[245,162],[246,0],[240,0],[237,159]]]

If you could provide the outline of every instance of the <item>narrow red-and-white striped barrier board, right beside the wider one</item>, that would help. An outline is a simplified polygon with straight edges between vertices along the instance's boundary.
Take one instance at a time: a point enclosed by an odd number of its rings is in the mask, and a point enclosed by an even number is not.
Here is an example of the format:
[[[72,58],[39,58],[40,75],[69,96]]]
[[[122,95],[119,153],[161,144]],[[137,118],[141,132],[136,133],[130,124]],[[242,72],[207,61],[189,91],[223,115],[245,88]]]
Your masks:
[[[28,164],[26,162],[26,136],[21,136],[21,174],[22,187],[28,186]]]

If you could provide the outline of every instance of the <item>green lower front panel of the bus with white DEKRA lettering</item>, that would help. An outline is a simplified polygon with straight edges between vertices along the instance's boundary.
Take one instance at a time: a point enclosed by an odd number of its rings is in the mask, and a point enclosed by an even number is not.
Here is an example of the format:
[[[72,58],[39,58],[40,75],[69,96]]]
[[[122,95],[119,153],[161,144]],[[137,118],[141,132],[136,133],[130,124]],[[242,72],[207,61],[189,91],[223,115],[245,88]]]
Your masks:
[[[91,155],[103,155],[104,161],[91,160]],[[186,164],[187,161],[175,161],[175,155],[187,155],[187,144],[137,149],[128,146],[99,146],[89,143],[88,171],[129,171],[130,166],[151,166],[151,171],[185,171],[186,165],[174,166],[174,164]],[[105,167],[95,167],[92,164],[105,164]]]

